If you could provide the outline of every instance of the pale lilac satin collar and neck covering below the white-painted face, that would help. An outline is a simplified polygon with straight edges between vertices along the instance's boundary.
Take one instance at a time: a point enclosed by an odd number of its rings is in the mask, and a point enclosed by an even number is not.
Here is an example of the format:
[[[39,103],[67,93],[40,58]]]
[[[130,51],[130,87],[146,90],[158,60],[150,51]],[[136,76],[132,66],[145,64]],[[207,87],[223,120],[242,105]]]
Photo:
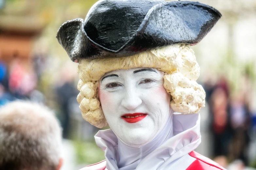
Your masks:
[[[168,169],[174,160],[196,149],[201,142],[200,115],[172,114],[171,118],[150,143],[139,148],[118,140],[111,129],[99,131],[95,141],[105,151],[107,169]]]

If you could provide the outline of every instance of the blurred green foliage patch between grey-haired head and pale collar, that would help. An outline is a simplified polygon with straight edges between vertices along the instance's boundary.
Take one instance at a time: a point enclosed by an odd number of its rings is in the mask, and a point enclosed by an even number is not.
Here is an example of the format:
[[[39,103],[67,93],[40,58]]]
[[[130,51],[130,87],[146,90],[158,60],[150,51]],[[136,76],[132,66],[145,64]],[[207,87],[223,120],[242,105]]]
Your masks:
[[[105,160],[104,152],[95,142],[74,141],[78,164],[93,164]]]

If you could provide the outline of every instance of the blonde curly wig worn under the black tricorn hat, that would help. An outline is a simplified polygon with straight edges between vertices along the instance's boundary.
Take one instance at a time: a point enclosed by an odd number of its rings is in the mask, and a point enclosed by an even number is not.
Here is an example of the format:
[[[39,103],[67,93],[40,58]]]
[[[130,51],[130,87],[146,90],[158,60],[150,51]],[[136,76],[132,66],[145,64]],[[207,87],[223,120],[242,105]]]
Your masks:
[[[200,68],[194,51],[188,45],[171,45],[122,58],[79,60],[80,93],[77,101],[83,118],[102,128],[108,123],[98,96],[98,81],[105,73],[130,68],[156,68],[165,73],[164,88],[171,94],[171,108],[182,114],[196,113],[205,105],[205,92],[196,83]]]

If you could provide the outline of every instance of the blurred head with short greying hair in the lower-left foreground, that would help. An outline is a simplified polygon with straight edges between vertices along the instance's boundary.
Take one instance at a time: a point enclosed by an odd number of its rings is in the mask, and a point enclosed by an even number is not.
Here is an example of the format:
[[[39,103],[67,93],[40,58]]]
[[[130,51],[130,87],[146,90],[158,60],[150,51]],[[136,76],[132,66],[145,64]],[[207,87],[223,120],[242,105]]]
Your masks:
[[[59,170],[61,128],[45,106],[15,101],[0,107],[0,170]]]

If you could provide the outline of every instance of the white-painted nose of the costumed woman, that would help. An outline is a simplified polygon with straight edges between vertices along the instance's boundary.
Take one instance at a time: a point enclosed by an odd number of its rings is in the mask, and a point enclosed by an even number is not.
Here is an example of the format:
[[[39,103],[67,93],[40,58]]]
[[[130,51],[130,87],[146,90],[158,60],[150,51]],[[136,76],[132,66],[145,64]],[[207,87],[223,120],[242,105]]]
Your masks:
[[[135,92],[134,89],[127,90],[121,102],[121,105],[128,110],[135,110],[141,104],[142,100],[139,97],[139,93]]]

